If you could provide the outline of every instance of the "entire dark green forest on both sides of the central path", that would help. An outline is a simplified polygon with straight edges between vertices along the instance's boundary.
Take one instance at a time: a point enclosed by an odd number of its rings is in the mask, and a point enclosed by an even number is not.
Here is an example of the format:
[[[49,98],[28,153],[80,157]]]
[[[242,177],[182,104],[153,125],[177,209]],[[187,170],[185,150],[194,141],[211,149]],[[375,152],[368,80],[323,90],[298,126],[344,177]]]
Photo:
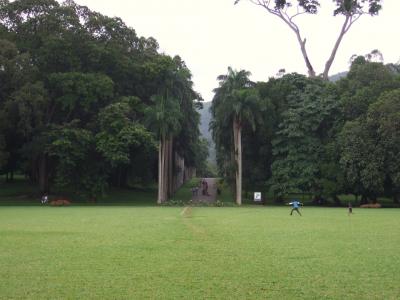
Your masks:
[[[316,203],[340,204],[343,194],[398,203],[400,66],[381,58],[353,57],[334,82],[284,70],[266,82],[232,68],[219,76],[208,134],[235,196],[243,185],[278,201],[307,193]],[[18,173],[41,193],[91,201],[109,187],[158,182],[165,202],[189,178],[214,173],[202,107],[185,62],[121,19],[70,0],[0,2],[6,180]]]

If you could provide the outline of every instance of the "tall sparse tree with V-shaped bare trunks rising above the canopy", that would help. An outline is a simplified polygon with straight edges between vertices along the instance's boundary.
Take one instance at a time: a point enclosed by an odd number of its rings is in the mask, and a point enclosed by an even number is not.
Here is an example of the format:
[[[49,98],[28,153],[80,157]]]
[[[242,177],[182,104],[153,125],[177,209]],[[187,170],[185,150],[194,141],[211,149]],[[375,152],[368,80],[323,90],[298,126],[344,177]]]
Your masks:
[[[295,34],[297,42],[299,43],[304,62],[306,64],[308,75],[315,77],[316,71],[311,63],[310,57],[307,52],[306,42],[307,39],[301,33],[300,27],[296,22],[296,18],[303,14],[316,14],[320,7],[319,0],[249,0],[251,3],[261,6],[267,10],[268,13],[280,18]],[[235,4],[240,0],[235,0]],[[297,3],[296,3],[297,2]],[[328,80],[329,70],[335,59],[337,50],[344,35],[350,30],[351,26],[365,14],[375,16],[381,10],[382,0],[333,0],[335,9],[334,16],[343,15],[344,20],[339,35],[333,45],[333,48],[326,60],[322,78]]]

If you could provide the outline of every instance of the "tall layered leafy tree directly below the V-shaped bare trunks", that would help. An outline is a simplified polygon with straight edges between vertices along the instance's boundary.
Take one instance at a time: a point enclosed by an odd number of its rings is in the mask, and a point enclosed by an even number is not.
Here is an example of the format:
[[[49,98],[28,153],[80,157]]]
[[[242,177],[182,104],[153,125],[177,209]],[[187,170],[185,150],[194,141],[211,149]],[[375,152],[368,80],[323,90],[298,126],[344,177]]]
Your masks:
[[[330,83],[304,76],[297,80],[304,85],[287,96],[288,107],[272,141],[271,183],[280,196],[294,191],[320,194],[324,144],[330,141],[339,115],[339,102]]]

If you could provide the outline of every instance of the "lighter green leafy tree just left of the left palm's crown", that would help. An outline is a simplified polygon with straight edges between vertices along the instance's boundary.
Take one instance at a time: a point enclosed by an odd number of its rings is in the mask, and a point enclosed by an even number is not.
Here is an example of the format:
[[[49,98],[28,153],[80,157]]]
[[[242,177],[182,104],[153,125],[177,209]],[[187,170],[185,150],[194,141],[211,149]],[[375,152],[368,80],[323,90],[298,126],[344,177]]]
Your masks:
[[[106,106],[98,114],[99,132],[96,134],[96,150],[109,165],[112,184],[125,186],[127,179],[151,177],[148,166],[156,152],[154,135],[140,124],[140,100],[124,97]],[[138,109],[139,108],[139,109]]]

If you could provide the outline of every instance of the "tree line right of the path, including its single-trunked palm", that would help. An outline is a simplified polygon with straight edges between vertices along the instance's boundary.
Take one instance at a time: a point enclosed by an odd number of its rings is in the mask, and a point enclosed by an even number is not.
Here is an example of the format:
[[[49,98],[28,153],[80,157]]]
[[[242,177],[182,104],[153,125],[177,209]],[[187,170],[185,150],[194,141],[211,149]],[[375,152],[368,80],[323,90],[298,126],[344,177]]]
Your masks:
[[[336,82],[292,73],[255,83],[232,68],[218,78],[211,128],[238,204],[242,185],[266,186],[277,200],[310,193],[319,203],[339,204],[342,194],[399,202],[400,65],[376,54],[353,57]]]

